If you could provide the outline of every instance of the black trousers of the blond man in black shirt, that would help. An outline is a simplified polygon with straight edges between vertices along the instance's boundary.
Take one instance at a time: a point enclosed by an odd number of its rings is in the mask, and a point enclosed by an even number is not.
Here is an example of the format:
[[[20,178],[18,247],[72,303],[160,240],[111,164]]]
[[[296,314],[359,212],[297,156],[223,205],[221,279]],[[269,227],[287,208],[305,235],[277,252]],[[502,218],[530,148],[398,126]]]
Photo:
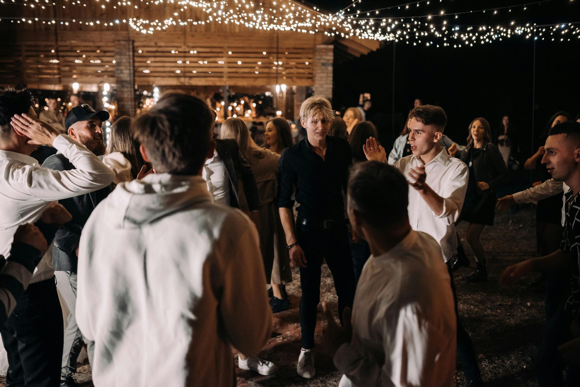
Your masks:
[[[302,348],[314,348],[316,313],[320,302],[320,275],[324,259],[334,279],[341,323],[343,309],[353,306],[354,269],[348,238],[344,226],[322,229],[296,225],[296,241],[306,257],[306,267],[300,268]]]

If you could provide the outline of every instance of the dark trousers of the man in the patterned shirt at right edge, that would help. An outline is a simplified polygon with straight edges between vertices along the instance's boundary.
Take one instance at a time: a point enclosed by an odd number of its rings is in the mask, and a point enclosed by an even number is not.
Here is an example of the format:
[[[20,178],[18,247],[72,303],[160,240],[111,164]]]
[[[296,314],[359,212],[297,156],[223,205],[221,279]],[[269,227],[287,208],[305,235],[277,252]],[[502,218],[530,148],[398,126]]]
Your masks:
[[[564,311],[564,302],[561,302],[546,326],[536,359],[536,377],[540,387],[580,386],[580,373],[574,368],[568,370],[566,381],[563,382],[564,364],[558,354],[558,346],[572,339],[571,323],[572,316]]]

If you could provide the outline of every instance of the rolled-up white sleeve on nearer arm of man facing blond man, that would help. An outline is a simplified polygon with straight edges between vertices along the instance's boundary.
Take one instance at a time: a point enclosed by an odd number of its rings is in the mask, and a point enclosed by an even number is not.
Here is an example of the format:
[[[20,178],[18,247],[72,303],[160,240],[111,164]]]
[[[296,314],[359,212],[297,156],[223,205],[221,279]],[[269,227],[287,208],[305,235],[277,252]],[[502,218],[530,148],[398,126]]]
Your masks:
[[[440,195],[443,198],[443,212],[435,217],[445,220],[447,225],[454,224],[459,218],[463,200],[465,200],[468,179],[469,168],[461,163],[452,171],[448,184],[445,185]]]

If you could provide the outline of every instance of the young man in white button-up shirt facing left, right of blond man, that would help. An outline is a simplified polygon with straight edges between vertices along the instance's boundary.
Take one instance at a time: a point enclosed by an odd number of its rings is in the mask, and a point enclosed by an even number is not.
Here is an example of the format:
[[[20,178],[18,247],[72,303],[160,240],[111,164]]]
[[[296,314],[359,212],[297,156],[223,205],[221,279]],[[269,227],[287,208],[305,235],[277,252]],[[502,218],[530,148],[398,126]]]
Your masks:
[[[439,144],[447,124],[447,115],[442,108],[433,105],[415,107],[409,112],[408,120],[413,154],[397,160],[394,166],[414,188],[409,189],[411,227],[429,234],[441,246],[443,259],[449,268],[457,312],[455,283],[448,261],[457,248],[454,223],[465,199],[469,169],[461,160],[449,156]],[[385,150],[377,147],[374,138],[369,138],[363,149],[368,159],[386,162]],[[483,386],[472,341],[459,320],[457,354],[469,387]]]

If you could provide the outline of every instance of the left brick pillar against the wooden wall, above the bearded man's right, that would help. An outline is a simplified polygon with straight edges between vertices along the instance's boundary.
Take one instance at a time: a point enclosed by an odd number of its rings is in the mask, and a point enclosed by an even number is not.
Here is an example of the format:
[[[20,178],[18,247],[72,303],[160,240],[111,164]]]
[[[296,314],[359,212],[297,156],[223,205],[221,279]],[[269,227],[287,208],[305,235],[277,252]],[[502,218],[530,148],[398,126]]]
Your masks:
[[[133,41],[115,41],[115,84],[117,86],[117,116],[134,117],[135,58]]]

